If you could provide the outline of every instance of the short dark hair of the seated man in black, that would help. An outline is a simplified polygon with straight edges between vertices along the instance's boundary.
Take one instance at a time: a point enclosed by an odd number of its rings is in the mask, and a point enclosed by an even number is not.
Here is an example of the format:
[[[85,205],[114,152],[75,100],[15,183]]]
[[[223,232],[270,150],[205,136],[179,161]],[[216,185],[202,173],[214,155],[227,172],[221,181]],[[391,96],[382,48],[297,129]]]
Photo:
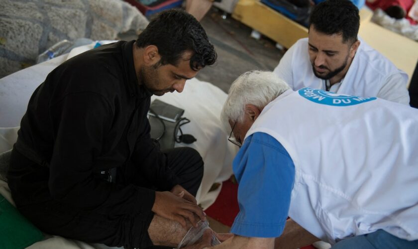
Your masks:
[[[181,9],[169,9],[158,14],[139,34],[140,48],[155,45],[161,55],[160,64],[177,66],[184,52],[193,56],[190,68],[198,71],[216,61],[216,52],[202,25],[193,15]]]

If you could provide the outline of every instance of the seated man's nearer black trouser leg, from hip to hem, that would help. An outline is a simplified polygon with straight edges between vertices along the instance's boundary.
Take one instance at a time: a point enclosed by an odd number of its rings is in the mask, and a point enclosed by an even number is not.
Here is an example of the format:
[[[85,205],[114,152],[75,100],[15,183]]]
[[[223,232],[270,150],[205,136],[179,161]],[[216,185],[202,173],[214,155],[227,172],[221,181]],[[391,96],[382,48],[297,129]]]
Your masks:
[[[17,209],[42,232],[112,247],[153,245],[147,231],[154,213],[108,215],[80,210],[52,200],[48,168],[35,164],[15,149],[10,164],[9,184]]]

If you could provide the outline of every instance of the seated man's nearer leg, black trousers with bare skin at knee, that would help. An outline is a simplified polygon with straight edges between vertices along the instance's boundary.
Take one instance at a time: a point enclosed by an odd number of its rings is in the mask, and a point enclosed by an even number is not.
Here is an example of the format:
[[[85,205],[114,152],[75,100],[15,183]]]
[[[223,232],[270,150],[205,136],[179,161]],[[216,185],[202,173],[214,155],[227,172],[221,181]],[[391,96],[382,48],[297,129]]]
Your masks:
[[[57,202],[19,208],[42,232],[86,243],[124,248],[176,248],[192,227],[155,214],[114,216],[81,212]]]

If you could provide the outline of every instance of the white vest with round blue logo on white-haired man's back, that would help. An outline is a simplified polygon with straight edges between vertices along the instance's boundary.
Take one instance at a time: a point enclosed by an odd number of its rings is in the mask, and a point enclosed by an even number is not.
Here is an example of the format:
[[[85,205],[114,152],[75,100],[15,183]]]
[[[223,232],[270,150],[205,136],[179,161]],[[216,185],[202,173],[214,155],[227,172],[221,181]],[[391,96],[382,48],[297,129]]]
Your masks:
[[[254,132],[270,134],[289,152],[296,170],[289,216],[317,238],[334,244],[383,229],[418,239],[418,110],[288,90],[246,137]]]

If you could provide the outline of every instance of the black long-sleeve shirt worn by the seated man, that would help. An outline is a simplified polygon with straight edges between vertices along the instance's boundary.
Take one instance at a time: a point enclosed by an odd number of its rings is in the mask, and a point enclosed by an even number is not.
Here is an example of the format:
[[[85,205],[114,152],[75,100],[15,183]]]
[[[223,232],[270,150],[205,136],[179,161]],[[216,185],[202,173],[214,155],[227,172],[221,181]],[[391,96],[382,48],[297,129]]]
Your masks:
[[[95,177],[115,167],[129,175],[129,165],[160,188],[177,184],[150,138],[152,94],[137,82],[133,45],[120,41],[76,56],[35,90],[15,148],[44,166],[13,172],[10,165],[16,204],[51,199],[107,214],[150,212],[154,190]]]

